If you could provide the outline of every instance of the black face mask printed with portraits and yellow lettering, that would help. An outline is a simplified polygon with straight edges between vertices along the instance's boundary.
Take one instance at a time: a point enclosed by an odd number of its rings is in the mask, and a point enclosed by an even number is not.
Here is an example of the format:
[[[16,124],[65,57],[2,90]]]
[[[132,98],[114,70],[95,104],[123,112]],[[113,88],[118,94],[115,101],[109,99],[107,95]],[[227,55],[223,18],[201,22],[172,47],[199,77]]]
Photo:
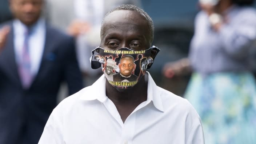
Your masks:
[[[92,51],[91,67],[102,68],[108,82],[116,88],[133,87],[145,75],[154,61],[152,50],[156,53],[159,48],[153,46],[147,50],[134,51],[128,48],[106,50],[97,47]]]

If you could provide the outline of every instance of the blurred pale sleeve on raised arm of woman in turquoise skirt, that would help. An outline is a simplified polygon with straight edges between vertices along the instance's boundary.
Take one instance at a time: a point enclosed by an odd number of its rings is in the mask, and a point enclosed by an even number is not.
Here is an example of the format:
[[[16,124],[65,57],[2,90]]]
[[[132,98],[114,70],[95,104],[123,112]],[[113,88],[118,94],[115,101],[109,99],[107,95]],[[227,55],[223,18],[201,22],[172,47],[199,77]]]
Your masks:
[[[220,42],[224,51],[235,59],[243,59],[249,54],[256,40],[256,12],[241,9],[229,24],[220,29]]]

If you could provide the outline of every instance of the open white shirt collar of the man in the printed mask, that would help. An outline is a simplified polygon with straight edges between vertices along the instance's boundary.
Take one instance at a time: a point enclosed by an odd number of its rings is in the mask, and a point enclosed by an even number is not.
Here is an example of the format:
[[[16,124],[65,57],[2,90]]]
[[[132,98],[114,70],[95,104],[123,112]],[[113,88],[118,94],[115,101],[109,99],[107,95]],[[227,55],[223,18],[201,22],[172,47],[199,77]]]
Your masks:
[[[153,105],[159,110],[164,112],[163,103],[161,99],[161,92],[159,91],[159,87],[156,85],[154,80],[152,79],[149,72],[148,74],[148,91],[147,91],[147,103],[153,102]],[[105,75],[103,74],[95,83],[93,83],[91,86],[86,87],[82,89],[82,95],[79,97],[80,100],[99,100],[101,103],[103,103],[105,100],[107,100],[106,96],[106,79]],[[99,89],[101,89],[99,91]],[[89,95],[88,95],[89,94]]]

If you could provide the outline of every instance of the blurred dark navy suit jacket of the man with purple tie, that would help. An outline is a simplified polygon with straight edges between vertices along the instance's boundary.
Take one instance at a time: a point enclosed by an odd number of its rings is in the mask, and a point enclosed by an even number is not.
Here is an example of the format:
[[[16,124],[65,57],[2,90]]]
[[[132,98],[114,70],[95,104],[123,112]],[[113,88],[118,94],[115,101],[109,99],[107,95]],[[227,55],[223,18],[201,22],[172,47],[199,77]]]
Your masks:
[[[69,93],[82,88],[75,42],[70,36],[46,25],[41,64],[31,87],[23,89],[17,71],[11,31],[0,53],[0,144],[37,144],[45,123],[56,107],[57,92],[67,81]]]

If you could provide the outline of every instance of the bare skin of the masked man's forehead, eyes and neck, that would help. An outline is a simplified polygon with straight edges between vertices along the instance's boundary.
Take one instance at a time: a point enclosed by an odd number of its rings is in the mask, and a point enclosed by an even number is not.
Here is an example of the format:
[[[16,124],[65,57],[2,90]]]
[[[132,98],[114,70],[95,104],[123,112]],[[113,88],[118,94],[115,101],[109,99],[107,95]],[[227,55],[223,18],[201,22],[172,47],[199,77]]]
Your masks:
[[[105,17],[105,30],[101,47],[109,50],[132,48],[136,51],[148,49],[152,40],[148,31],[147,20],[139,12],[118,10]],[[152,57],[155,58],[152,52]],[[141,77],[138,83],[129,89],[116,89],[106,81],[106,95],[113,101],[123,122],[132,111],[147,100],[148,75]]]

